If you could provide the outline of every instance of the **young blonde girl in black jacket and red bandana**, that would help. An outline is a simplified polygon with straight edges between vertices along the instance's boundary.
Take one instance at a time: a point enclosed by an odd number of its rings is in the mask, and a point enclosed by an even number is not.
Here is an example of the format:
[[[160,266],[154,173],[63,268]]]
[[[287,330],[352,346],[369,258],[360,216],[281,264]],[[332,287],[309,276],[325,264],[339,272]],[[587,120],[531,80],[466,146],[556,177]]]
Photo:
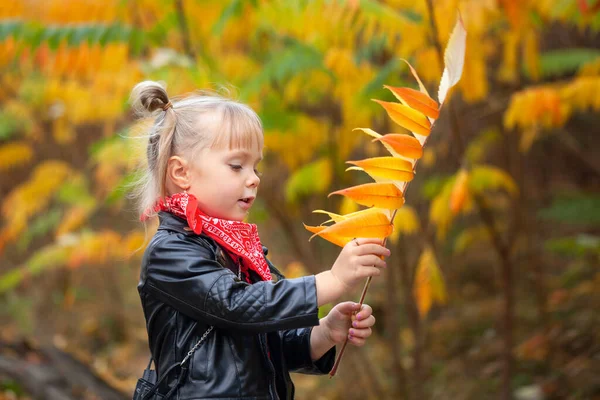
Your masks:
[[[252,109],[218,96],[177,102],[142,82],[133,108],[156,114],[140,192],[142,219],[159,227],[142,260],[138,291],[161,394],[177,399],[292,399],[289,372],[330,371],[335,345],[361,346],[369,306],[334,302],[389,256],[380,240],[346,245],[331,269],[284,279],[243,222],[260,183],[263,130]],[[354,316],[355,314],[355,316]],[[195,348],[195,351],[194,351]],[[190,355],[188,368],[172,368]]]

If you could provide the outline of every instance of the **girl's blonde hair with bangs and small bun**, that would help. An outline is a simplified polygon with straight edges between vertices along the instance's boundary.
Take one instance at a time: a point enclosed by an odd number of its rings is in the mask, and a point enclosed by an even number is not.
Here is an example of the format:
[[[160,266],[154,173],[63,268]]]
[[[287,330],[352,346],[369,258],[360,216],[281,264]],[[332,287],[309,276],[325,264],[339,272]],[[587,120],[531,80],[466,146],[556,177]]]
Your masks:
[[[138,116],[156,116],[147,135],[147,166],[140,171],[133,190],[138,211],[146,217],[156,215],[152,207],[159,197],[167,195],[167,164],[171,156],[191,159],[197,150],[206,147],[263,145],[263,127],[256,112],[216,93],[198,92],[175,100],[169,99],[159,83],[144,81],[131,91],[130,103]]]

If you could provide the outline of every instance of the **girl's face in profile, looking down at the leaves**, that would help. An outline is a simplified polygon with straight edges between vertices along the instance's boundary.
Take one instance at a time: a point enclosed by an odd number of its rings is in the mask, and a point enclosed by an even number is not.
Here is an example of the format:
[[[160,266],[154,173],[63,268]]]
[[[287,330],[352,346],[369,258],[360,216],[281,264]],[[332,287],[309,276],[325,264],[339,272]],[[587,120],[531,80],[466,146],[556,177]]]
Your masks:
[[[203,148],[190,160],[190,188],[199,208],[211,217],[242,221],[260,184],[262,146]]]

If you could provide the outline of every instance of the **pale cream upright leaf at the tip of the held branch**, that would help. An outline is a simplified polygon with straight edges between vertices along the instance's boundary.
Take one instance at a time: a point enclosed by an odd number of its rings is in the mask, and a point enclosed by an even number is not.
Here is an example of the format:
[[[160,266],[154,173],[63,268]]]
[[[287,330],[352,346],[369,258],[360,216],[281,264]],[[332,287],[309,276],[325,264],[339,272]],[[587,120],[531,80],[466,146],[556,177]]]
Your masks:
[[[456,85],[462,75],[465,63],[467,31],[462,22],[460,14],[448,40],[446,51],[444,52],[444,73],[438,90],[438,101],[440,107],[446,100],[446,95],[452,86]]]

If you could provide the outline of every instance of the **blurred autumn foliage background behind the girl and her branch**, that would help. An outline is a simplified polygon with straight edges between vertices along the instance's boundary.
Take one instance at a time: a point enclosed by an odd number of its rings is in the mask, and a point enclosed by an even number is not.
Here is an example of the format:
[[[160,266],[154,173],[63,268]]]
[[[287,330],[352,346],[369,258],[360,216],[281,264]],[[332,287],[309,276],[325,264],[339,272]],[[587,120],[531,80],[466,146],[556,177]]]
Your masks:
[[[417,88],[402,59],[437,98],[457,10],[462,80],[367,295],[375,333],[297,398],[600,399],[599,0],[3,1],[0,399],[130,398],[148,361],[137,82],[257,110],[250,222],[312,274],[339,248],[302,224],[358,210],[327,194],[387,155],[353,129],[403,132],[371,101]]]

